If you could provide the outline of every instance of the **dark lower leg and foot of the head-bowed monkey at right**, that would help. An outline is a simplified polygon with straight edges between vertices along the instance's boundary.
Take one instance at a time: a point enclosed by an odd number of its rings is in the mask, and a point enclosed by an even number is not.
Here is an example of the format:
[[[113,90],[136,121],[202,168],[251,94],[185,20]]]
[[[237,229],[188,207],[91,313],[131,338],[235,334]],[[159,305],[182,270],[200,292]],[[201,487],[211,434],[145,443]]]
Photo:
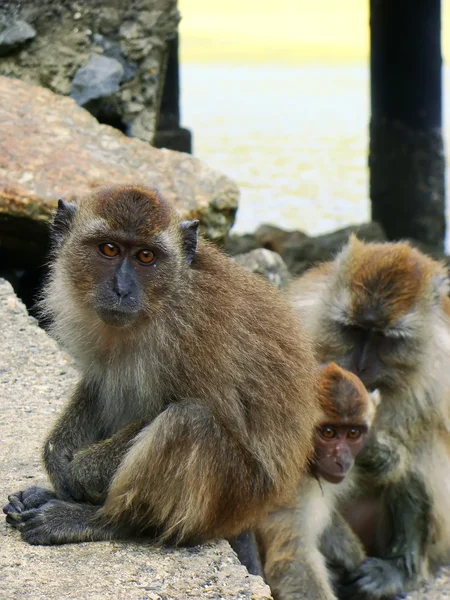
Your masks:
[[[385,491],[383,502],[391,542],[380,558],[367,558],[351,575],[355,591],[372,598],[413,588],[427,568],[431,501],[423,482],[417,476],[399,481]]]

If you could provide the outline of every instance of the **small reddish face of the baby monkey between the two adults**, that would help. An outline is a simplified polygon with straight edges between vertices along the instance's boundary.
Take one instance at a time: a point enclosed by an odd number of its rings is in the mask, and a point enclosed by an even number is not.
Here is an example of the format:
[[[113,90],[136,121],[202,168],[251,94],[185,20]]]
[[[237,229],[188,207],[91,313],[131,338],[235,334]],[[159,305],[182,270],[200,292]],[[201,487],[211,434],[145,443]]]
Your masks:
[[[316,433],[315,472],[330,483],[340,483],[355,463],[367,435],[364,425],[324,423]]]

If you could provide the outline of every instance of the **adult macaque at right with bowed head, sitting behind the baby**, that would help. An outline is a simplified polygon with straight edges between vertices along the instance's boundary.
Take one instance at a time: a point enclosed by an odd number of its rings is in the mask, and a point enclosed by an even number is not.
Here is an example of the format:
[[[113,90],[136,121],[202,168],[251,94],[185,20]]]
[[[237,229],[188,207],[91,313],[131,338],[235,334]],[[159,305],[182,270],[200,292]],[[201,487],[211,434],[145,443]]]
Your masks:
[[[450,300],[446,268],[407,243],[352,237],[291,294],[321,360],[383,401],[342,511],[367,558],[346,597],[383,598],[449,559]]]

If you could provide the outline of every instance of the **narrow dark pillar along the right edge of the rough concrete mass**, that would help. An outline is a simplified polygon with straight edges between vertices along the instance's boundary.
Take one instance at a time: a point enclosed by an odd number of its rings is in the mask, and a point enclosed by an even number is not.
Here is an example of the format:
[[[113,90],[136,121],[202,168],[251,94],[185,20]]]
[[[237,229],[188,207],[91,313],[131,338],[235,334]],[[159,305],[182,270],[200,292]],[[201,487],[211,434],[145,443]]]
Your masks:
[[[156,148],[170,148],[170,150],[192,153],[191,132],[180,127],[178,36],[168,43],[166,77],[153,145]]]

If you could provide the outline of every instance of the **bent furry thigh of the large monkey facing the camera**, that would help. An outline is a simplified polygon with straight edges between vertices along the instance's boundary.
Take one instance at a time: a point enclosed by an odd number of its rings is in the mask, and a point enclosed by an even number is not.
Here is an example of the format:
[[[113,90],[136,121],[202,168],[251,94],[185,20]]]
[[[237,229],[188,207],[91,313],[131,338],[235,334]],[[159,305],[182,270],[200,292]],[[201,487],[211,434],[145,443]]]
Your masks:
[[[171,404],[133,441],[100,516],[144,524],[163,541],[198,543],[252,528],[276,494],[270,472],[245,435],[230,432],[205,405]]]

